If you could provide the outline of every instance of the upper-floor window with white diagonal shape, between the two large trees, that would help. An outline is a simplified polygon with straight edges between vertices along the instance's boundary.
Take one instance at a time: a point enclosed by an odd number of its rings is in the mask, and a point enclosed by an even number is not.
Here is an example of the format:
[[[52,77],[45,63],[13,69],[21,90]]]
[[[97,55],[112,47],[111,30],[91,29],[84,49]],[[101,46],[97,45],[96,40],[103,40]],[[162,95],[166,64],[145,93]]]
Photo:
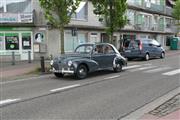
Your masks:
[[[79,4],[79,7],[76,10],[76,14],[72,15],[72,19],[86,20],[87,14],[88,14],[88,3],[87,2],[81,2]]]

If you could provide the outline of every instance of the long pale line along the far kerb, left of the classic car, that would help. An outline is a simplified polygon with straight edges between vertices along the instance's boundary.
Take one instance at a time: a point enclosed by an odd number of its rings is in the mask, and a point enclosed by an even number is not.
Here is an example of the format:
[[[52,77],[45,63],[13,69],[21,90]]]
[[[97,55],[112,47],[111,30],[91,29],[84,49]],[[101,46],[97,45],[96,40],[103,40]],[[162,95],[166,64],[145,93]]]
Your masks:
[[[6,82],[0,82],[0,85],[8,84],[8,83],[15,83],[15,82],[28,81],[28,80],[32,80],[32,79],[44,78],[44,77],[49,77],[49,76],[51,76],[51,75],[43,75],[43,76],[38,76],[38,77],[31,77],[31,78],[25,78],[25,79],[19,79],[19,80],[11,80],[11,81],[6,81]]]

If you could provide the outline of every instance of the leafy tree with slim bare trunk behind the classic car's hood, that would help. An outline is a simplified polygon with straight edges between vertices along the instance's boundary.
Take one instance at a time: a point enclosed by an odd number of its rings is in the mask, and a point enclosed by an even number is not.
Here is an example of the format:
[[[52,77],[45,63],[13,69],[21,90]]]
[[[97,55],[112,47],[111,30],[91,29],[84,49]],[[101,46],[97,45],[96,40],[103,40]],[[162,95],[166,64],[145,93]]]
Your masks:
[[[45,18],[60,31],[61,54],[64,53],[64,27],[70,22],[81,0],[39,0]]]

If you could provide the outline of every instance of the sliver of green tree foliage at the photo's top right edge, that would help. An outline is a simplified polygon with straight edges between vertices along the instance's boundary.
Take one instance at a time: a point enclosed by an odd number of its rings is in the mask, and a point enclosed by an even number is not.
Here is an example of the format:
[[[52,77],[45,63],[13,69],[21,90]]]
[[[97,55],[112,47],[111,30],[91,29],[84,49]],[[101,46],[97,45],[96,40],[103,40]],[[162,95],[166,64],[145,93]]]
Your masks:
[[[176,1],[172,15],[178,21],[178,26],[180,26],[180,0]]]

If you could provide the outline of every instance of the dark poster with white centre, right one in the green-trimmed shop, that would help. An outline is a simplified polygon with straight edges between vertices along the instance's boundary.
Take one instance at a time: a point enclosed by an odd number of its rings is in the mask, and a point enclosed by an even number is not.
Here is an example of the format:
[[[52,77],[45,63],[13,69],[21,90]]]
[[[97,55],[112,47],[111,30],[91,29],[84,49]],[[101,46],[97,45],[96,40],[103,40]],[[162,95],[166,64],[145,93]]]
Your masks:
[[[31,49],[31,36],[22,36],[22,48]]]

